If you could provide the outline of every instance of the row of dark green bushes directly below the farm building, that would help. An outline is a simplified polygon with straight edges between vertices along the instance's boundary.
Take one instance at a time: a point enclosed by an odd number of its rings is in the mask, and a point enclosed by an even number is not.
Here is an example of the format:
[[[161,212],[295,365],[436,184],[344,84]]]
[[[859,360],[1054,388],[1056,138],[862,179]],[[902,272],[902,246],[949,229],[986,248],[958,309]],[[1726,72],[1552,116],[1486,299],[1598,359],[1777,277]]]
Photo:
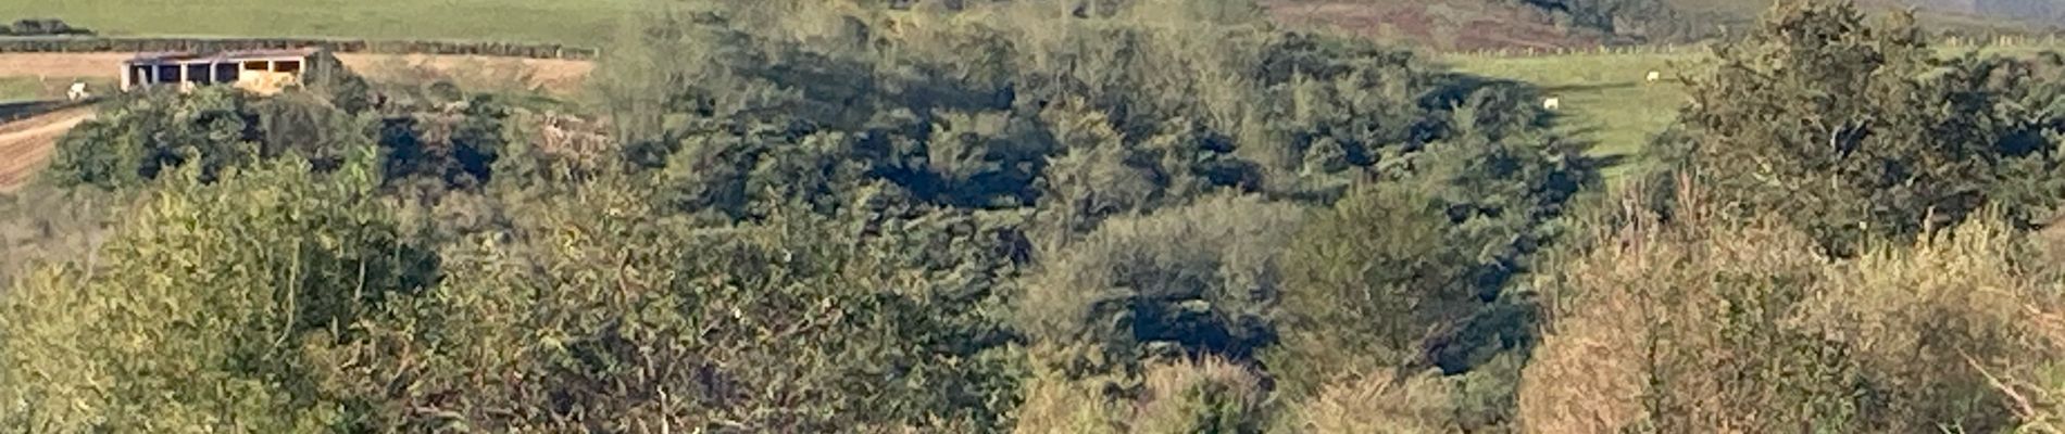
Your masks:
[[[198,165],[200,179],[262,160],[304,158],[318,173],[355,150],[382,152],[388,187],[469,189],[494,177],[510,109],[489,97],[446,107],[353,113],[316,93],[256,97],[209,86],[120,99],[68,132],[39,177],[58,187],[140,187],[159,173]]]

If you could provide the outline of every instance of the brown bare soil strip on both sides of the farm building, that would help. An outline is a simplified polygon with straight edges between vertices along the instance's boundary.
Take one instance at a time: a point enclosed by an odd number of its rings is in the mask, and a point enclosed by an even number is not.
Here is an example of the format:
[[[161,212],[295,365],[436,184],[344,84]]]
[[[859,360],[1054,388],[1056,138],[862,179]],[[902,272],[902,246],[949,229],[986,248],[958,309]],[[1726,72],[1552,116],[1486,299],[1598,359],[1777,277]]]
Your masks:
[[[122,60],[132,53],[0,53],[0,78],[114,78],[122,76]],[[545,91],[570,95],[580,91],[593,62],[584,60],[520,60],[489,56],[394,56],[339,53],[337,60],[372,80],[434,82],[452,80],[481,91]]]

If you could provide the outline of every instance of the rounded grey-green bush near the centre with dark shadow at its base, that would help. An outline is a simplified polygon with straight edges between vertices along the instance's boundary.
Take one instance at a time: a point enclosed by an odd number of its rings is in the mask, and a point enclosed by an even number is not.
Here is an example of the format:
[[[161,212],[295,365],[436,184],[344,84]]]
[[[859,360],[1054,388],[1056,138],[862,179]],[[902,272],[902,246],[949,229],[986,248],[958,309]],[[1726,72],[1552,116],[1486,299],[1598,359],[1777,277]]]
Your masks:
[[[1249,360],[1276,339],[1278,249],[1301,210],[1253,195],[1113,218],[1066,251],[1043,253],[1018,315],[1035,341],[1088,341],[1132,372],[1154,356]],[[1074,372],[1080,374],[1080,372]]]

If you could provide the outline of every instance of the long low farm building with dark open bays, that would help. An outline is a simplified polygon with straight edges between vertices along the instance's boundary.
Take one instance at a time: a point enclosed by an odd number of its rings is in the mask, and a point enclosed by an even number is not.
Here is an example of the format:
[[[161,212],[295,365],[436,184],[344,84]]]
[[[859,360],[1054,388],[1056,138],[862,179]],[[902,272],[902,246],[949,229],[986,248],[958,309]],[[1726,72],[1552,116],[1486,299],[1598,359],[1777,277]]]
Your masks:
[[[326,49],[252,49],[215,53],[140,53],[122,62],[122,91],[178,84],[233,84],[273,95],[343,68]]]

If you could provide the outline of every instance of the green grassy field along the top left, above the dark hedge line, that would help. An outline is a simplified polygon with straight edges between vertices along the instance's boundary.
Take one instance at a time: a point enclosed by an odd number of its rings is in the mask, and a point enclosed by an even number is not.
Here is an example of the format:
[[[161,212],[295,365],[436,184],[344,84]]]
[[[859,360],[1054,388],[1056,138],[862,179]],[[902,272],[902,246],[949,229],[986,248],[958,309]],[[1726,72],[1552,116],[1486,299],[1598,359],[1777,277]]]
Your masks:
[[[4,0],[0,21],[103,35],[533,41],[597,47],[659,0]]]

